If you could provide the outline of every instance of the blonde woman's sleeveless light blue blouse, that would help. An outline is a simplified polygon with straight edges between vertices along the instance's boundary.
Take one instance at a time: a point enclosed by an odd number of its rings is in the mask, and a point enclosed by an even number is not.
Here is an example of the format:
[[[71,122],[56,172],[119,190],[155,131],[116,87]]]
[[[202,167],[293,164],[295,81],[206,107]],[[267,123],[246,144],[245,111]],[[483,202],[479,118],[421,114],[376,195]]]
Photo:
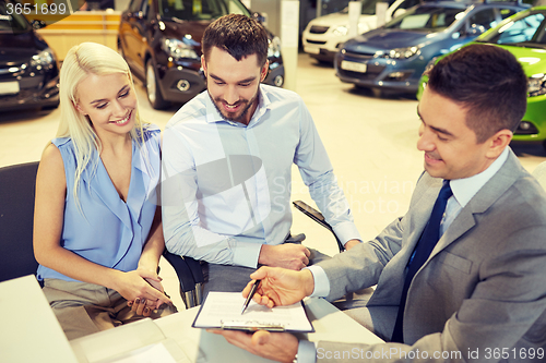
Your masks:
[[[61,153],[67,178],[64,223],[61,246],[106,267],[122,271],[136,269],[157,207],[156,186],[161,168],[161,131],[144,130],[143,150],[132,143],[131,181],[127,203],[114,186],[100,158],[83,171],[80,186],[80,208],[73,195],[75,154],[71,138],[55,138]],[[95,154],[97,152],[94,152]],[[95,160],[97,155],[93,155]],[[82,214],[83,210],[83,214]],[[56,278],[76,281],[48,267],[38,266],[38,280]]]

